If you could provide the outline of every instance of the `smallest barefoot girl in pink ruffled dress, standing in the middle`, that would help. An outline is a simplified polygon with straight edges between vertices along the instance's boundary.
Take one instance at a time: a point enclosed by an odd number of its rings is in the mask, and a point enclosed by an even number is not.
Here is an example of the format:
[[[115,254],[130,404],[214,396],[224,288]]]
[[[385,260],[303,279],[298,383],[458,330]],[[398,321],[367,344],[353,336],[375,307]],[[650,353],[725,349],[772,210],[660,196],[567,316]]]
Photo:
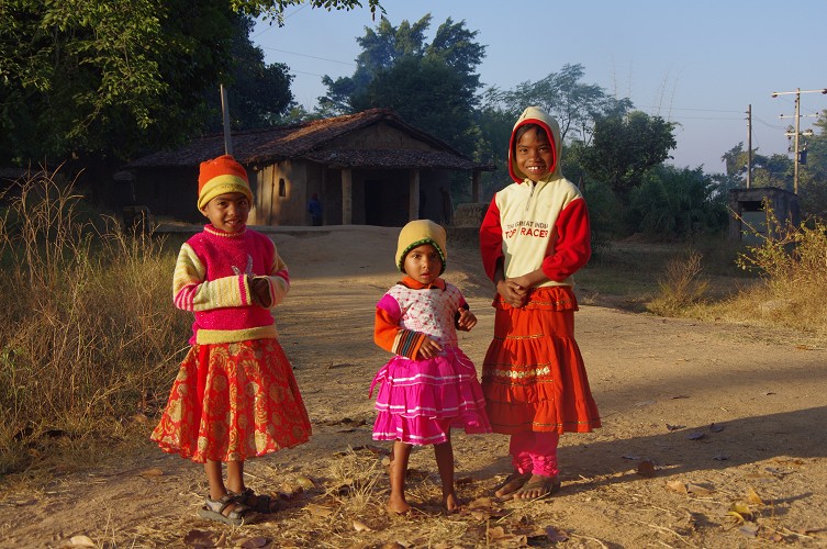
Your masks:
[[[457,346],[457,329],[477,324],[445,270],[445,229],[427,220],[412,221],[399,235],[396,267],[405,273],[377,303],[373,340],[395,356],[373,378],[379,384],[375,440],[393,440],[388,508],[407,513],[405,473],[412,446],[434,445],[443,502],[459,502],[454,490],[451,427],[491,433],[482,388],[471,360]]]

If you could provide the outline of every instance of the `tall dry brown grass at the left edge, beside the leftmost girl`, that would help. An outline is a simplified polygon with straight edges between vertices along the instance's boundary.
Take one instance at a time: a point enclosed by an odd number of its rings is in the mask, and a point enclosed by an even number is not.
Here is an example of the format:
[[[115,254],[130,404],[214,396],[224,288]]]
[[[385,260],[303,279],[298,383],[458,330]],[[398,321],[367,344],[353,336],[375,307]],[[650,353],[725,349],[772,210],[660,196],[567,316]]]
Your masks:
[[[175,255],[88,215],[57,172],[13,191],[0,219],[0,442],[136,414],[168,385],[186,340],[186,318],[169,305]]]

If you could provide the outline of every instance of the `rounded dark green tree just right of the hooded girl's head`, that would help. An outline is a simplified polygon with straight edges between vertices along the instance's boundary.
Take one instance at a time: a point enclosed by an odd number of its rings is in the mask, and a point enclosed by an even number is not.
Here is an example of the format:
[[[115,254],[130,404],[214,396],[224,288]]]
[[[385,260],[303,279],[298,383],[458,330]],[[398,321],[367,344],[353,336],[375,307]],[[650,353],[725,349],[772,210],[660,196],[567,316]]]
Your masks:
[[[580,155],[583,169],[626,198],[649,169],[670,158],[677,146],[673,130],[674,123],[640,111],[599,119],[592,144]]]

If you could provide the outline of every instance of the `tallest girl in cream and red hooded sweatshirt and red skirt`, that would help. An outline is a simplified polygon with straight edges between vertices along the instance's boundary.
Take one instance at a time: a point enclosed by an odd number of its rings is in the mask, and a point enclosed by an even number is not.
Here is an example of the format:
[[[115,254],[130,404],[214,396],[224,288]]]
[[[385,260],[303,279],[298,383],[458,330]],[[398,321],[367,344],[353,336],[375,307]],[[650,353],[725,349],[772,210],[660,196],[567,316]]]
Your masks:
[[[574,340],[571,278],[591,256],[589,214],[560,172],[560,149],[557,122],[526,109],[509,147],[514,183],[494,195],[480,227],[482,262],[498,292],[482,389],[492,429],[511,435],[514,467],[496,490],[502,498],[557,491],[559,436],[600,427]]]

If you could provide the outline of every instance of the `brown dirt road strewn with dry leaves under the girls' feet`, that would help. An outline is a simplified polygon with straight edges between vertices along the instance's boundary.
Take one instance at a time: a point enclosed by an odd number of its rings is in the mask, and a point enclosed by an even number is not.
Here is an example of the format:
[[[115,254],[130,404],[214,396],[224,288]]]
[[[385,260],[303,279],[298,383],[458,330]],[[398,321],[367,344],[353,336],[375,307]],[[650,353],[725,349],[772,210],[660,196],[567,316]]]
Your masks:
[[[372,345],[372,314],[398,279],[395,234],[273,235],[293,279],[278,312],[281,343],[314,437],[247,470],[249,485],[282,494],[283,511],[239,529],[200,520],[201,469],[146,441],[118,460],[89,456],[88,468],[53,471],[45,485],[4,489],[0,547],[72,537],[96,547],[827,547],[825,346],[602,306],[582,306],[575,329],[604,427],[562,437],[559,494],[491,500],[509,469],[507,440],[458,434],[467,508],[435,508],[436,467],[425,449],[412,457],[410,481],[422,512],[389,517],[367,393],[387,360]],[[445,276],[479,317],[460,340],[479,368],[492,333],[490,288],[472,250],[450,249]]]

